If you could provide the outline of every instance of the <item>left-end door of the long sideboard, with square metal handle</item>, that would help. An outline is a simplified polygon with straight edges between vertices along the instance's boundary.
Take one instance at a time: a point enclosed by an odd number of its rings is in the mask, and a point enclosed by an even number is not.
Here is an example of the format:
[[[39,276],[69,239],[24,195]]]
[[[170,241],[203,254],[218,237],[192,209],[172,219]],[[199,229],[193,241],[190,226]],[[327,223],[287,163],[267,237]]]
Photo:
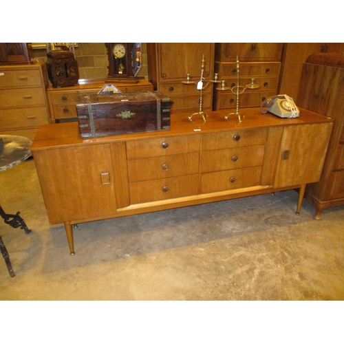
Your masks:
[[[109,144],[34,152],[52,224],[116,213]]]

